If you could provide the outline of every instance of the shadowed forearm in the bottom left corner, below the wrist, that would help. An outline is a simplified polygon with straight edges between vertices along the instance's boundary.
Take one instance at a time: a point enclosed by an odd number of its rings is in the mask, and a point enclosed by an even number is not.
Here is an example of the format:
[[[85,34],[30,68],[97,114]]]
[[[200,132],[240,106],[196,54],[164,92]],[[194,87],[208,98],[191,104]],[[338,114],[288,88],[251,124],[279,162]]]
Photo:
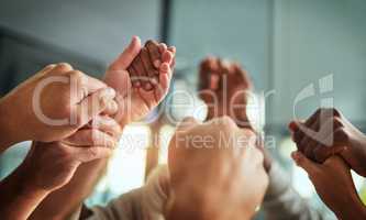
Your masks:
[[[25,220],[48,195],[48,191],[27,185],[24,167],[19,166],[0,183],[0,216],[4,220]]]

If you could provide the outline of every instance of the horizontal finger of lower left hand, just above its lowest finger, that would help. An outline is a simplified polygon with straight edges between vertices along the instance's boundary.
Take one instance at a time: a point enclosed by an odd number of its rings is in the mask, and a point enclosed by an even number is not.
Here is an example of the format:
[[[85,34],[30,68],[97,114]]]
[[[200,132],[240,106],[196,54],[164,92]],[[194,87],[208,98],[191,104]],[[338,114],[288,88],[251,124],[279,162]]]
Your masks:
[[[114,148],[117,146],[117,140],[106,132],[98,129],[81,129],[73,135],[63,140],[63,143],[73,146],[103,146]]]

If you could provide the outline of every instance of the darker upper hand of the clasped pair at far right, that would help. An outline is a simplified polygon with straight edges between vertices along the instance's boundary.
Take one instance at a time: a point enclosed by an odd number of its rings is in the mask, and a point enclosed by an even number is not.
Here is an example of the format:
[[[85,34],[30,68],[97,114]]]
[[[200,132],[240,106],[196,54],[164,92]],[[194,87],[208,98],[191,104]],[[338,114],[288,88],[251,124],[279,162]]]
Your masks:
[[[306,122],[292,121],[289,128],[307,157],[323,163],[339,154],[352,169],[366,176],[366,136],[336,109],[319,109]]]

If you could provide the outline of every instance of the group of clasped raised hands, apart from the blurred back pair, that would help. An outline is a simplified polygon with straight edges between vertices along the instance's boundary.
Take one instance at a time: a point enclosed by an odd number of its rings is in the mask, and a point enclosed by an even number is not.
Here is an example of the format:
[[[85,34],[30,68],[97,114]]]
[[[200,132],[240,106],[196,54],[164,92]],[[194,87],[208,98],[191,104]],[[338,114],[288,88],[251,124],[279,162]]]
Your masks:
[[[3,97],[0,153],[18,142],[33,141],[23,163],[0,184],[4,189],[19,184],[16,191],[4,197],[22,194],[30,200],[38,198],[24,202],[23,208],[31,211],[65,186],[81,163],[111,155],[123,128],[146,117],[166,96],[175,54],[173,46],[155,41],[142,46],[140,38],[133,37],[108,67],[103,80],[68,64],[55,64]],[[236,64],[230,64],[226,72],[235,77],[243,74]],[[38,85],[52,77],[67,80],[45,86],[35,105]],[[213,84],[200,87],[218,89],[215,78],[208,77],[206,81]],[[251,89],[248,84],[241,85],[231,91]],[[201,98],[210,101],[204,94]],[[44,123],[34,105],[53,122],[67,123]],[[204,123],[182,120],[170,141],[167,219],[251,219],[262,204],[270,169],[265,145],[249,125],[237,123],[248,121],[245,111],[234,111],[235,117],[210,113],[211,120]],[[291,156],[309,174],[324,204],[340,219],[366,217],[351,176],[351,169],[366,176],[365,134],[335,109],[319,109],[306,121],[292,121],[289,130],[298,148]],[[7,208],[1,209],[7,213]],[[18,213],[8,215],[22,219]],[[29,215],[24,212],[23,219]]]

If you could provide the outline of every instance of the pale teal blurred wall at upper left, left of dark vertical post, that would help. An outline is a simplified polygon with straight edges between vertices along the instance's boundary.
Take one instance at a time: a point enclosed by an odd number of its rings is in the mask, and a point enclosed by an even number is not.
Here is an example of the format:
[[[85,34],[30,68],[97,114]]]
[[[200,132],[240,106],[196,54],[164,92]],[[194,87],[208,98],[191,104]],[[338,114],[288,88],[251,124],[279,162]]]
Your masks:
[[[132,35],[158,38],[160,0],[1,0],[0,25],[111,62]]]

